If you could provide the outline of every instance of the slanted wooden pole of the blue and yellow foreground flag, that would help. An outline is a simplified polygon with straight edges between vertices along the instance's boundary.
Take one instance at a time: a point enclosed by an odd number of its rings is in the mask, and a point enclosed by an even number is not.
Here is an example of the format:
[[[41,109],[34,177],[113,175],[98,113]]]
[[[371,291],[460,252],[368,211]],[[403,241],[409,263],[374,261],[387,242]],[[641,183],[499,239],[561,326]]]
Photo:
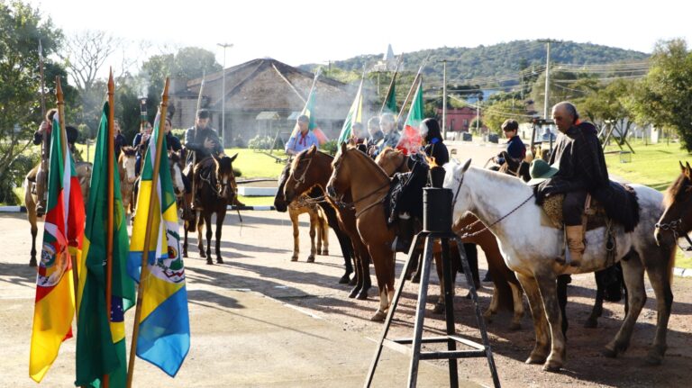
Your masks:
[[[154,206],[159,201],[159,195],[156,192],[159,185],[159,169],[161,167],[161,152],[163,151],[163,124],[166,122],[166,107],[168,106],[168,77],[166,77],[166,85],[163,87],[161,94],[161,105],[159,111],[159,131],[156,137],[156,158],[154,158],[154,166],[151,171],[151,191],[149,194],[149,212],[147,213],[147,229],[144,232],[144,248],[141,252],[141,273],[140,284],[137,287],[137,309],[134,313],[134,327],[132,328],[132,345],[130,346],[130,362],[127,368],[127,387],[132,387],[132,374],[134,374],[134,358],[137,355],[137,338],[140,335],[140,319],[141,319],[141,300],[144,282],[147,278],[147,265],[149,263],[149,245],[151,241],[151,224],[154,217]],[[147,152],[145,158],[150,158]],[[143,169],[143,167],[142,167]],[[160,203],[159,203],[160,206]],[[160,214],[159,214],[160,216]]]

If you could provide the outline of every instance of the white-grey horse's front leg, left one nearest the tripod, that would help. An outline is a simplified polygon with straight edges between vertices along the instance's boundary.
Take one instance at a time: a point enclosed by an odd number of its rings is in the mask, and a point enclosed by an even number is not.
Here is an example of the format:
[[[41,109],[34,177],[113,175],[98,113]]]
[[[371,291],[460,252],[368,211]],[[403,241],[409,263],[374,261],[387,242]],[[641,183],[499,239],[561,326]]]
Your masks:
[[[517,279],[524,288],[524,293],[529,299],[531,316],[533,318],[533,329],[536,332],[536,342],[531,354],[526,359],[526,364],[542,364],[545,362],[551,350],[551,338],[548,336],[548,320],[543,311],[541,293],[538,290],[538,283],[533,276],[517,273]]]

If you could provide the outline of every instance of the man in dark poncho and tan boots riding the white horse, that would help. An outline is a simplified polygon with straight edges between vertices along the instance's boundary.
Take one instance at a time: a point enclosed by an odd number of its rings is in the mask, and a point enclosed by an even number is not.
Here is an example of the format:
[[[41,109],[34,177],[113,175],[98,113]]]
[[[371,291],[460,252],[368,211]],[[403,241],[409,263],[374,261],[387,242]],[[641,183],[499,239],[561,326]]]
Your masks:
[[[582,215],[587,194],[594,198],[607,195],[610,180],[605,167],[596,127],[580,122],[574,104],[562,102],[552,108],[552,119],[562,133],[558,139],[550,164],[558,165],[557,174],[537,188],[537,201],[553,194],[565,194],[562,216],[569,248],[569,264],[580,266],[584,245]]]

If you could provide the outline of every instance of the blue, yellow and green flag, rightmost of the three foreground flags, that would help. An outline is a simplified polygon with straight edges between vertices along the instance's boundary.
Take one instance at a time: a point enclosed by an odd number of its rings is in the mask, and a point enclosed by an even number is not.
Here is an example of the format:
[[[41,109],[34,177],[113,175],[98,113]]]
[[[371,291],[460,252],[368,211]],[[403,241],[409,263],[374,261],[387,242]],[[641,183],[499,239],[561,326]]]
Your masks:
[[[127,270],[138,282],[140,274],[143,274],[137,356],[159,366],[168,375],[175,376],[190,348],[190,325],[185,267],[180,256],[176,195],[168,170],[168,155],[165,151],[160,155],[156,152],[156,139],[162,130],[159,124],[160,114],[154,122],[154,132],[143,161]],[[165,137],[162,149],[166,149]],[[160,158],[161,168],[157,186],[152,192],[155,158]],[[150,201],[154,201],[152,234],[147,268],[142,269],[141,258]]]

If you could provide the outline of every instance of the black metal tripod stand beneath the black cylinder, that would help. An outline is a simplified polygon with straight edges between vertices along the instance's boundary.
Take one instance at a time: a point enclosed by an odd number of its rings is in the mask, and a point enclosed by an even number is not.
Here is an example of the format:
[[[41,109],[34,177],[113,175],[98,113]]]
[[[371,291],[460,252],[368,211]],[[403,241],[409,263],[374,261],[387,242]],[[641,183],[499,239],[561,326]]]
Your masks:
[[[423,221],[423,223],[425,223]],[[426,228],[427,229],[427,228]],[[405,274],[408,272],[409,266],[413,262],[413,257],[420,254],[420,249],[417,248],[419,243],[424,240],[424,250],[423,250],[423,275],[421,276],[420,290],[418,291],[418,304],[415,312],[415,325],[414,325],[414,338],[397,338],[397,339],[387,339],[387,332],[389,331],[389,326],[392,323],[392,317],[394,316],[394,311],[396,310],[396,305],[399,302],[399,297],[404,289]],[[430,283],[430,268],[432,265],[432,245],[435,240],[440,240],[442,245],[442,273],[444,279],[444,310],[445,310],[445,320],[447,322],[447,335],[443,337],[430,337],[423,338],[423,320],[425,318],[425,301],[428,295],[428,284]],[[480,329],[480,336],[483,340],[483,344],[478,344],[476,342],[470,341],[466,338],[461,338],[456,335],[454,328],[454,305],[453,305],[453,282],[452,282],[452,266],[450,259],[450,240],[455,240],[457,242],[457,247],[459,248],[461,266],[464,269],[464,275],[466,275],[466,281],[469,284],[469,292],[471,294],[471,300],[473,301],[474,307],[476,309],[476,320],[478,321],[478,329]],[[402,270],[401,277],[399,279],[399,285],[396,288],[396,293],[394,294],[394,299],[392,300],[391,306],[389,306],[389,311],[387,312],[387,320],[385,320],[385,327],[382,330],[382,336],[379,338],[378,349],[375,353],[375,358],[370,364],[368,378],[366,380],[365,386],[369,387],[372,383],[372,378],[375,374],[375,368],[378,366],[379,356],[382,354],[382,347],[385,341],[395,342],[397,344],[413,344],[412,346],[412,356],[411,365],[408,370],[408,386],[416,386],[416,380],[418,378],[418,364],[420,360],[429,359],[448,359],[450,361],[450,386],[459,386],[459,376],[457,372],[457,358],[470,358],[470,357],[487,357],[487,364],[490,368],[490,374],[493,377],[493,384],[496,387],[500,386],[500,380],[497,377],[497,371],[495,367],[495,361],[493,360],[493,352],[490,349],[490,344],[487,340],[486,324],[481,315],[480,308],[478,306],[478,294],[476,293],[476,288],[473,284],[473,279],[471,276],[471,270],[469,268],[469,262],[466,258],[466,252],[463,248],[463,243],[461,239],[456,234],[449,232],[432,232],[432,231],[422,231],[415,236],[414,242],[406,259],[404,269]],[[430,351],[422,352],[422,343],[447,343],[446,351]],[[463,344],[467,347],[472,347],[473,350],[457,350],[457,342]]]

